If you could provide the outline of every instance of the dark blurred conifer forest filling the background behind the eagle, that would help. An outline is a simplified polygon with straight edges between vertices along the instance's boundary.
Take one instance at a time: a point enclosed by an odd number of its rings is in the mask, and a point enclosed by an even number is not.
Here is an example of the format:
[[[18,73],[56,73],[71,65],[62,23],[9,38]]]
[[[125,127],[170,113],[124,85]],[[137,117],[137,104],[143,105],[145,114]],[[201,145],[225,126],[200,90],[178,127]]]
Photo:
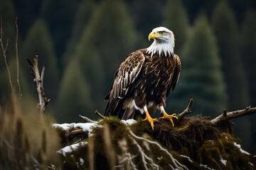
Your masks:
[[[46,64],[47,114],[58,123],[97,118],[124,57],[149,47],[157,26],[174,31],[181,77],[167,98],[167,111],[180,113],[193,98],[193,114],[214,118],[223,109],[256,106],[256,1],[253,0],[0,0],[3,40],[16,82],[16,18],[21,98],[38,101],[26,57]],[[11,88],[0,52],[0,105]],[[16,85],[18,92],[18,86]],[[235,135],[256,152],[256,116],[235,121]]]

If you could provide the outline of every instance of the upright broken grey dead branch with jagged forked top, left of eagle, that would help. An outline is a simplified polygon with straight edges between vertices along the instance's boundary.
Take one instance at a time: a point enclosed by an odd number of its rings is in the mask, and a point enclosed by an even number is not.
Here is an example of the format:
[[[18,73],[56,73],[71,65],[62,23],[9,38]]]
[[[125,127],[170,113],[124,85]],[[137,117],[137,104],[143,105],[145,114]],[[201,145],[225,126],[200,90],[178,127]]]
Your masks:
[[[39,98],[38,106],[39,106],[40,114],[41,116],[43,116],[43,113],[46,112],[46,106],[50,102],[50,99],[46,98],[46,94],[43,91],[43,76],[46,69],[46,64],[43,64],[43,68],[40,75],[39,69],[38,69],[38,56],[34,57],[33,63],[30,60],[28,60],[28,58],[26,58],[26,60],[28,61],[29,67],[31,67],[31,73],[35,78],[33,81],[36,82],[36,87],[38,91],[38,98]]]

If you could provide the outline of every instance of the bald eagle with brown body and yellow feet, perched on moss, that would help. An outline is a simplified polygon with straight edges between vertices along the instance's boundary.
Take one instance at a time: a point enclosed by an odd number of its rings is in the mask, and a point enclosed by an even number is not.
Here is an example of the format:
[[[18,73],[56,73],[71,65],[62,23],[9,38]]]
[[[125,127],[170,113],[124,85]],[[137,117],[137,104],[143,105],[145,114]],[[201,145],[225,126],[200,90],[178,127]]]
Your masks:
[[[127,120],[139,111],[146,114],[154,130],[156,118],[151,118],[159,109],[163,117],[174,125],[176,115],[168,115],[166,96],[174,90],[181,71],[181,60],[174,54],[174,33],[164,27],[154,28],[149,33],[154,42],[148,47],[129,54],[114,74],[112,89],[105,96],[108,100],[105,115],[115,115]]]

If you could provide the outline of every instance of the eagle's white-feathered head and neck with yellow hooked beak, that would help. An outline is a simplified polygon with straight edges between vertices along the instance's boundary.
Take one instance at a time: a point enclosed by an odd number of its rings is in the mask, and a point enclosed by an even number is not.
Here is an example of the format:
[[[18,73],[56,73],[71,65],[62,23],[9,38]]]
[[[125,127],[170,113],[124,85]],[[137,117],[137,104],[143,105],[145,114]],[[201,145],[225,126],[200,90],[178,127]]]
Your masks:
[[[151,57],[158,53],[159,56],[163,53],[165,56],[174,55],[174,33],[165,28],[157,27],[149,33],[149,40],[154,38],[154,42],[146,49],[146,52]]]

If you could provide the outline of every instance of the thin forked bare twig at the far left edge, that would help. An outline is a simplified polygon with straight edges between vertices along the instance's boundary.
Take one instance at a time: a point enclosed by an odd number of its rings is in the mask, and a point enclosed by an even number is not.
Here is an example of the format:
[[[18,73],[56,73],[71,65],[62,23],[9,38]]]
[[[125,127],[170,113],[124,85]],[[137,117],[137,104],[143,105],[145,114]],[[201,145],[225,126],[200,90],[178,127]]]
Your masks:
[[[8,43],[9,43],[9,39],[6,40],[6,46],[4,47],[2,18],[0,16],[0,45],[1,45],[1,50],[3,51],[3,55],[4,55],[4,63],[6,64],[6,69],[7,69],[7,72],[8,72],[9,84],[11,86],[11,94],[14,97],[14,86],[11,82],[11,73],[10,73],[9,66],[8,66],[8,63],[7,63],[7,60],[6,60],[6,50],[7,50],[7,47],[8,47]]]

